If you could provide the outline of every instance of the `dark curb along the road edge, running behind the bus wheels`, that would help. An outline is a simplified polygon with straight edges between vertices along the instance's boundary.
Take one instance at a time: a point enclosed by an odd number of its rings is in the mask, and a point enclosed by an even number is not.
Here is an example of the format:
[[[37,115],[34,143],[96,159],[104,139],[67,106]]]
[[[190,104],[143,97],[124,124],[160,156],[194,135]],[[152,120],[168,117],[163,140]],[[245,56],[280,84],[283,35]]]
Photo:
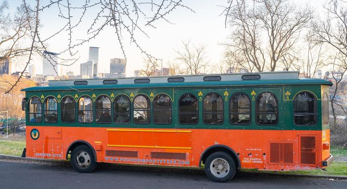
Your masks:
[[[35,162],[35,163],[45,163],[52,165],[62,165],[71,166],[69,161],[64,160],[50,160],[50,159],[37,159],[37,158],[22,158],[19,156],[10,156],[0,154],[0,160],[12,160],[12,161],[22,161],[22,162]],[[120,165],[120,164],[108,164],[101,163],[101,168],[111,168],[111,169],[123,169],[123,170],[136,170],[136,171],[155,171],[155,172],[189,172],[193,174],[204,174],[203,169],[198,168],[182,168],[182,167],[160,167],[160,166],[145,166],[145,165]],[[136,169],[134,169],[136,167]],[[306,174],[282,174],[276,172],[254,172],[254,171],[239,171],[236,176],[272,176],[272,177],[290,177],[290,178],[313,178],[313,179],[336,179],[336,180],[347,180],[347,176],[340,175],[306,175]]]

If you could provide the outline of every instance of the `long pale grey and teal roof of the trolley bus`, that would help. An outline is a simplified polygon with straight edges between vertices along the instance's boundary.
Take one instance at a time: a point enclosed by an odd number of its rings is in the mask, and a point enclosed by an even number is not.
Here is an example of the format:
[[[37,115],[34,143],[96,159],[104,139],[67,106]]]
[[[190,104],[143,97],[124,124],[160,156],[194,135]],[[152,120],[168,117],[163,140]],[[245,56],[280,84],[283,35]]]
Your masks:
[[[201,74],[154,77],[127,77],[117,79],[50,80],[49,86],[37,86],[21,91],[91,90],[110,88],[146,87],[200,87],[200,86],[249,86],[249,85],[332,85],[322,79],[299,79],[298,71],[273,71],[257,73]],[[165,85],[163,85],[165,84]]]

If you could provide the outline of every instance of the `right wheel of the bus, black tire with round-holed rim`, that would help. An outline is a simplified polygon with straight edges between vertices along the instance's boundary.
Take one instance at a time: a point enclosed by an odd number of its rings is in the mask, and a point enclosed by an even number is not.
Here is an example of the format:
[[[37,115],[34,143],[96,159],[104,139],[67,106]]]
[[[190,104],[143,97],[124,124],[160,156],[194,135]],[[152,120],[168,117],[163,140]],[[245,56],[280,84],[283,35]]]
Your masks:
[[[223,167],[221,171],[219,171],[217,164],[220,165],[220,167]],[[211,165],[213,170],[211,170],[210,168]],[[228,166],[225,166],[225,165],[228,165]],[[207,177],[214,182],[219,182],[219,183],[227,182],[231,180],[236,173],[235,161],[229,154],[225,152],[214,152],[211,155],[209,155],[206,159],[205,173]],[[215,175],[218,175],[218,176],[215,176]]]

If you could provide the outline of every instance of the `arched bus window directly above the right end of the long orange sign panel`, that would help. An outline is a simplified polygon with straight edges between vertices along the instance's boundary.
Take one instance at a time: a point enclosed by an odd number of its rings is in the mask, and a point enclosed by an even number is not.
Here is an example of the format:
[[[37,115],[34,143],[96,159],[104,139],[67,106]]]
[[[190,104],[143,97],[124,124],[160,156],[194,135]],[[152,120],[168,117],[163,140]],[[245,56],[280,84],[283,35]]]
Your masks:
[[[181,124],[197,124],[198,119],[198,99],[193,94],[183,94],[179,98],[179,123]]]

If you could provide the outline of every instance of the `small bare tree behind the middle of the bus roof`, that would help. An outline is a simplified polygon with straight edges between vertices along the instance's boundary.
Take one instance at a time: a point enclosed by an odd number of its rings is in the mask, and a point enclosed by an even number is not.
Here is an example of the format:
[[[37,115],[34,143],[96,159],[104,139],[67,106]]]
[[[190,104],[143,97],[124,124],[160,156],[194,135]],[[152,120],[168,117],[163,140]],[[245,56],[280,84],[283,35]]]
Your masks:
[[[185,66],[187,74],[199,74],[207,66],[206,45],[192,45],[190,40],[181,41],[183,48],[177,49],[176,60]]]

